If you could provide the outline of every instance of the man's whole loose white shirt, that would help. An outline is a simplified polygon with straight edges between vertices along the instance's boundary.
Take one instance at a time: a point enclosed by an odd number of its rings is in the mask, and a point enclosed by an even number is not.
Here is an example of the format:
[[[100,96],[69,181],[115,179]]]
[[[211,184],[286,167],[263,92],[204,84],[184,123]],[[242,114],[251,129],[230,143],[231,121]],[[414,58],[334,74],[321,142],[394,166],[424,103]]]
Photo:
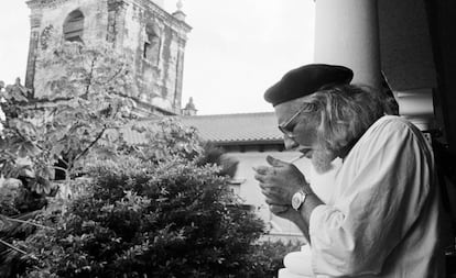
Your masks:
[[[432,149],[399,116],[378,120],[310,221],[312,269],[349,277],[444,277]]]

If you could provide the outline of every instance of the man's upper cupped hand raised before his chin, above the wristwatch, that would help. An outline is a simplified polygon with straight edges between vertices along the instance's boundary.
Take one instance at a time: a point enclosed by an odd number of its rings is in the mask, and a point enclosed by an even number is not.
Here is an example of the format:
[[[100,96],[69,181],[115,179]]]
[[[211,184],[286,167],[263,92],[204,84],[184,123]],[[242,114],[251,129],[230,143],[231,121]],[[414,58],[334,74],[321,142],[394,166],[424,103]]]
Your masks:
[[[296,191],[310,192],[310,185],[296,166],[272,156],[268,156],[267,162],[270,166],[254,168],[257,173],[254,178],[260,182],[261,191],[269,205],[290,208],[292,197]],[[272,212],[279,216],[281,214]]]

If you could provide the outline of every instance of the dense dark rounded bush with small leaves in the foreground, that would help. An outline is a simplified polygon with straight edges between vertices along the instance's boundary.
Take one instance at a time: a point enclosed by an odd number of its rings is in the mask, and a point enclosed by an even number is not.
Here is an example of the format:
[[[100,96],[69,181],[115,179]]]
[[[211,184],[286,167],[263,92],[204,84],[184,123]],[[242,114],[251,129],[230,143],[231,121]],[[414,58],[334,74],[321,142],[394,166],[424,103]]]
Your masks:
[[[248,271],[262,222],[217,167],[123,157],[93,168],[89,194],[23,246],[58,277],[228,277]],[[39,277],[30,270],[26,277]]]

